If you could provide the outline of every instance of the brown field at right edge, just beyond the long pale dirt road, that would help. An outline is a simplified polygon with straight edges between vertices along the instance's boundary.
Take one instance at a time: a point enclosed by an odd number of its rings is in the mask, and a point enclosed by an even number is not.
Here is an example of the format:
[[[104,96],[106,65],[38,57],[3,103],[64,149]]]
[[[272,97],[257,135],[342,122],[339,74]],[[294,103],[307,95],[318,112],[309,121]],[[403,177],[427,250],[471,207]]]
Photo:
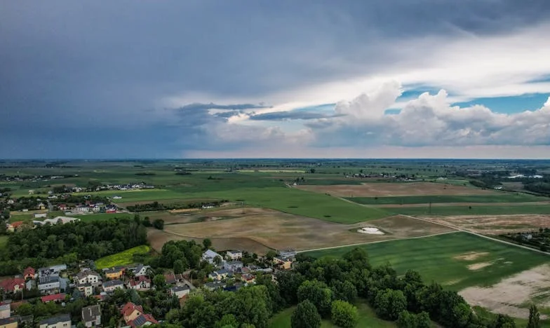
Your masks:
[[[499,235],[502,233],[538,230],[548,226],[550,215],[518,214],[518,215],[457,215],[452,217],[421,217],[441,224],[450,224],[457,228]]]

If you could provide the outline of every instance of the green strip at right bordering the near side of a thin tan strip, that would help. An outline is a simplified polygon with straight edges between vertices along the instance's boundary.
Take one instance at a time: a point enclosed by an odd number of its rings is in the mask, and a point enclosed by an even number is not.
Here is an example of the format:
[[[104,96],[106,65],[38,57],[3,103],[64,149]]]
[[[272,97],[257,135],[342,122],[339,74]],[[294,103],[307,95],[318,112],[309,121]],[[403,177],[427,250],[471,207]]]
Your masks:
[[[429,206],[384,208],[394,214],[405,215],[509,215],[509,214],[550,214],[550,205],[494,205],[494,206]]]

